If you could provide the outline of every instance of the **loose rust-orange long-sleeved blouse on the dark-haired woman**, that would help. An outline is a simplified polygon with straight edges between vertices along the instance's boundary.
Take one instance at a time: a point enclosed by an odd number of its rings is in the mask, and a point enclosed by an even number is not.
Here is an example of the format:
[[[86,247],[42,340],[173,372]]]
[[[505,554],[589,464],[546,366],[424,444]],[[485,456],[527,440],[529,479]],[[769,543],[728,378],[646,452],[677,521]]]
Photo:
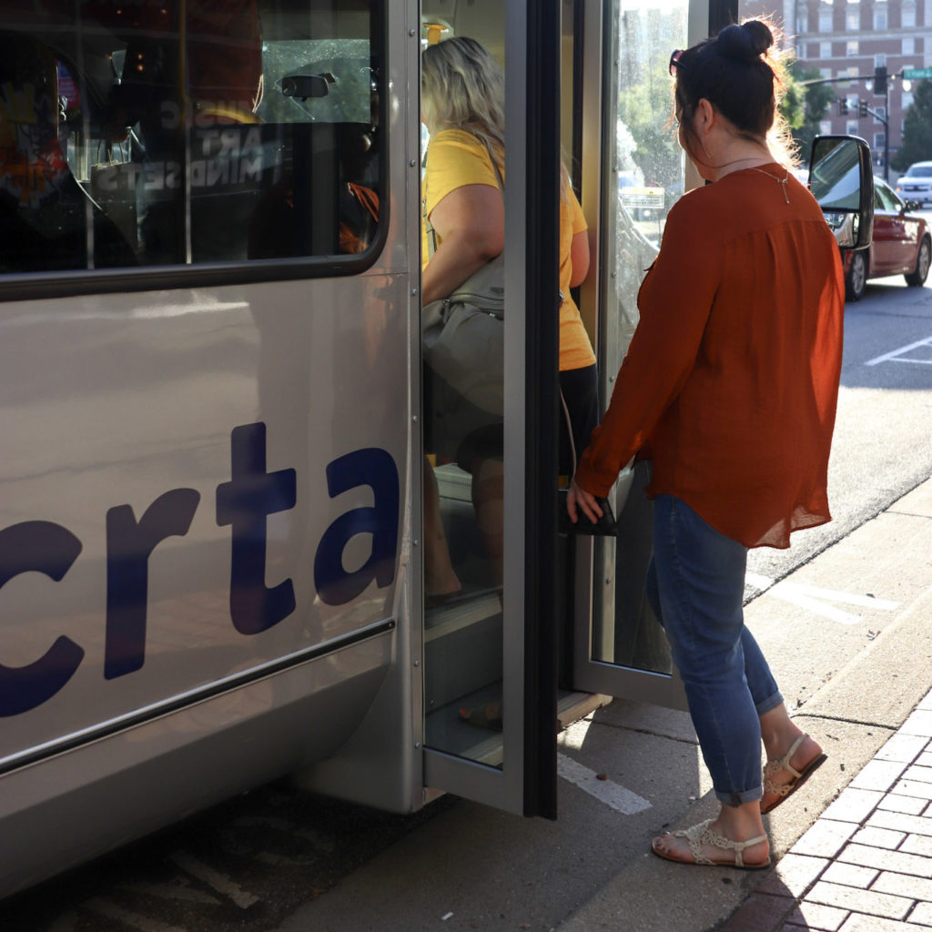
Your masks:
[[[733,171],[669,212],[640,322],[575,479],[604,496],[635,454],[648,495],[686,501],[747,547],[831,520],[842,367],[838,247],[804,185]],[[784,197],[786,189],[789,203]]]

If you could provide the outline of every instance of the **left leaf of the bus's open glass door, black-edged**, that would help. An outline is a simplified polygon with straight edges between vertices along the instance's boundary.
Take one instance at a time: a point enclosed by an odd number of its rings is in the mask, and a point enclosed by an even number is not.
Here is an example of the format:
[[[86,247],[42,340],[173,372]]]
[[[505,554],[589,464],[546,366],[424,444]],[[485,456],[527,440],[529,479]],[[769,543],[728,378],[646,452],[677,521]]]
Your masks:
[[[420,10],[425,48],[468,37],[503,66],[507,128],[503,412],[463,404],[451,370],[425,353],[423,783],[543,816],[555,815],[556,445],[555,418],[535,414],[556,410],[558,15],[559,4],[525,0]],[[427,129],[439,142],[438,121]],[[464,135],[457,144],[472,152]],[[440,146],[427,151],[430,217]],[[432,243],[423,248],[429,258]],[[539,313],[548,296],[550,318]]]

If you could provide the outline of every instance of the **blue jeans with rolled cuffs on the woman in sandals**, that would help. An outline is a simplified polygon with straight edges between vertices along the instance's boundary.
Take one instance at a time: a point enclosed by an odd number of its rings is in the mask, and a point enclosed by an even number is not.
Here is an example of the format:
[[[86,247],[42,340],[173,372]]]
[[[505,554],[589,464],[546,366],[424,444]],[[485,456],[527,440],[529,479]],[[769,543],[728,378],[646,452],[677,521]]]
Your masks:
[[[783,696],[745,627],[747,548],[672,495],[653,502],[647,596],[686,687],[715,795],[761,799],[761,722]]]

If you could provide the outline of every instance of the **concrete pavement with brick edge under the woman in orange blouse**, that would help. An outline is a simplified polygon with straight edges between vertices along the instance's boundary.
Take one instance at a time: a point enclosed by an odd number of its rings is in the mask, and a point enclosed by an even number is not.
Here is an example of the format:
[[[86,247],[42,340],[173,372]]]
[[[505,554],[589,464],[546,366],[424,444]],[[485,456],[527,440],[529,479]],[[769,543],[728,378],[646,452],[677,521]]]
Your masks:
[[[653,834],[716,802],[688,717],[616,701],[563,733],[560,750],[624,792],[561,779],[555,823],[458,802],[279,932],[932,926],[932,480],[787,580],[752,582],[764,591],[747,624],[794,718],[829,753],[765,817],[774,868],[651,856]]]

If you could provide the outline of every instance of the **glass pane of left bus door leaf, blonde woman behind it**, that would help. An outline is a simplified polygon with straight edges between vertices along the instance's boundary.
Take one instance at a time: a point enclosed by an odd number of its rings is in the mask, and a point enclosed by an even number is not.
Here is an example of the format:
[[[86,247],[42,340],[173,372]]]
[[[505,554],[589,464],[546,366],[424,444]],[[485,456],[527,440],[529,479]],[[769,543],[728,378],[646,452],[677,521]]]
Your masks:
[[[457,5],[453,11],[448,6],[425,2],[422,12],[425,740],[429,747],[500,767],[504,324],[487,300],[475,302],[483,309],[478,314],[436,300],[445,295],[433,285],[429,267],[450,261],[445,245],[456,249],[454,267],[463,262],[457,224],[470,205],[461,199],[474,198],[477,188],[484,197],[480,211],[503,235],[493,159],[503,177],[503,120],[495,115],[504,112],[504,14],[500,3]],[[488,53],[476,56],[484,73],[476,86],[496,89],[495,105],[485,108],[490,123],[479,134],[459,128],[458,114],[471,110],[457,90],[462,82],[450,80],[468,67],[462,47],[451,42],[443,50],[432,48],[437,40],[461,36]],[[500,263],[498,274],[490,267],[480,270],[487,275],[480,290],[488,296],[490,286],[503,309],[503,255]],[[465,275],[458,270],[453,277],[462,281]],[[476,281],[473,276],[468,283]]]

